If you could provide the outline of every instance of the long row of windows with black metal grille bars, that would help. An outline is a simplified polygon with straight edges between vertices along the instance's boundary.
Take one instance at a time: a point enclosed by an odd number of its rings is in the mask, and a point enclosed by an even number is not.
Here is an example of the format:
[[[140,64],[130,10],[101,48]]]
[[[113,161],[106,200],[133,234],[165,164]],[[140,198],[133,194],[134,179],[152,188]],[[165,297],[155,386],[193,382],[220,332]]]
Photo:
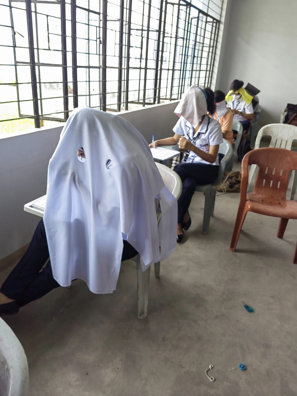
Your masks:
[[[211,84],[223,0],[0,0],[0,121],[119,112]],[[0,124],[1,128],[1,124]]]

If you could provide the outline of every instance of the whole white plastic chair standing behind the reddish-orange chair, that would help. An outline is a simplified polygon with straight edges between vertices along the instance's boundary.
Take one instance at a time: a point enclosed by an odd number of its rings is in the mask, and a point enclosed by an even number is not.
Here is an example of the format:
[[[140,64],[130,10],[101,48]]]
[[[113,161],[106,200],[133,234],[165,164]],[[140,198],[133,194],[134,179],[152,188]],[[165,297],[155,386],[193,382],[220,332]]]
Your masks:
[[[297,140],[297,126],[288,125],[288,124],[268,124],[263,126],[257,135],[255,150],[260,147],[261,139],[263,136],[270,136],[271,141],[269,147],[278,147],[278,148],[286,148],[287,150],[291,150],[293,140]],[[256,165],[251,165],[251,169],[249,170],[249,180],[247,184],[247,191],[249,191],[251,187],[251,181],[253,180],[253,176],[256,171]],[[293,199],[295,196],[296,186],[297,186],[297,172],[292,171],[293,181],[291,187],[291,196],[290,199]]]

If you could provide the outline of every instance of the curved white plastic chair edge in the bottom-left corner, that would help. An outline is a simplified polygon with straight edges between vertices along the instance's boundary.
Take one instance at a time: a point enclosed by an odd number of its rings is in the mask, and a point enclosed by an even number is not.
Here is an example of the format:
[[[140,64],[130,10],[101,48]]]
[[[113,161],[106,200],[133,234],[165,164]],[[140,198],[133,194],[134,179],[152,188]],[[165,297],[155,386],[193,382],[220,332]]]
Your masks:
[[[23,346],[0,318],[0,395],[27,396],[29,369]]]

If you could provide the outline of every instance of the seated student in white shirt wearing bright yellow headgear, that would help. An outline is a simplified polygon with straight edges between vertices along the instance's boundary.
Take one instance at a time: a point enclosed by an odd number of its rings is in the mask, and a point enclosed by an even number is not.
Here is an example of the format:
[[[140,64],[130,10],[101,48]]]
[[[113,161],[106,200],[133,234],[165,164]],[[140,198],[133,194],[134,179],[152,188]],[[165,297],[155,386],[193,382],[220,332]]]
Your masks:
[[[231,109],[234,120],[238,120],[246,131],[254,119],[253,97],[243,88],[243,81],[234,80],[226,95],[227,107]]]

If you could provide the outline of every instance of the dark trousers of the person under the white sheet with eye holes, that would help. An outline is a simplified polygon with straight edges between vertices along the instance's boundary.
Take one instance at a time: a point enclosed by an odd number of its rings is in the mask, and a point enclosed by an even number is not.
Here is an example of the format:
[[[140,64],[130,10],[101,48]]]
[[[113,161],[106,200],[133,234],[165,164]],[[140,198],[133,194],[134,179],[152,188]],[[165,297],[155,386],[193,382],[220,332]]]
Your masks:
[[[127,241],[123,241],[122,261],[137,255],[137,251]],[[44,222],[41,220],[34,232],[30,246],[21,261],[11,271],[0,291],[6,297],[15,300],[17,306],[23,307],[37,300],[52,289],[59,287],[53,278],[49,258],[48,242]],[[42,269],[42,271],[41,271]]]

